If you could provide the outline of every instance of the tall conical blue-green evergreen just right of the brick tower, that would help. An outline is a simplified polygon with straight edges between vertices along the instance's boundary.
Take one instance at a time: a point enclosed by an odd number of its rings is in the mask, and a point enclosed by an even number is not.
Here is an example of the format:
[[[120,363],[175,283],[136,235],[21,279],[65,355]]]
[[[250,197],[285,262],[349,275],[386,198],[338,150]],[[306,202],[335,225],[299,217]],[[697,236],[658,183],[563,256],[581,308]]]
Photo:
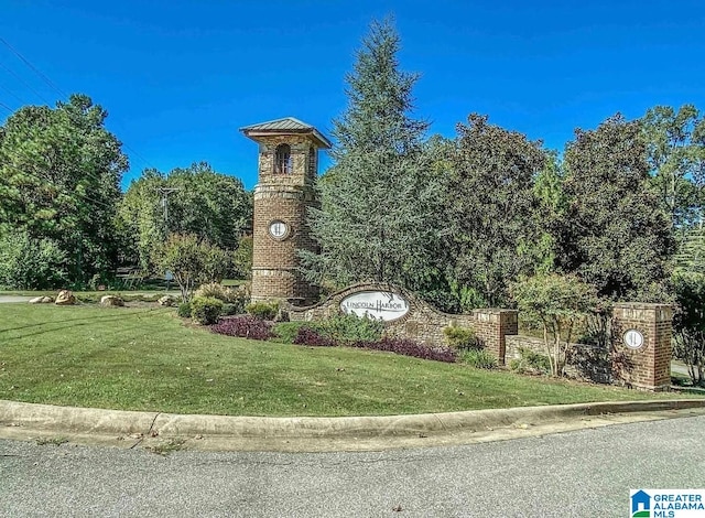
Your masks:
[[[319,183],[310,224],[319,255],[307,277],[340,287],[361,280],[422,289],[432,277],[436,183],[424,154],[427,123],[411,117],[416,74],[399,69],[400,39],[373,22],[348,74],[348,107],[334,121],[335,165]]]

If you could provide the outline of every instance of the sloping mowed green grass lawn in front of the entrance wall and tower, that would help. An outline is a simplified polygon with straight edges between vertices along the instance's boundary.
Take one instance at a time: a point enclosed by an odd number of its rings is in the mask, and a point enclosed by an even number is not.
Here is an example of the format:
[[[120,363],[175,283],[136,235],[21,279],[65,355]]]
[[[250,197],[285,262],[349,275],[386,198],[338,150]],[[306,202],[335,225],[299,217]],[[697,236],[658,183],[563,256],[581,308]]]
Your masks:
[[[173,309],[0,304],[0,399],[231,416],[370,416],[668,398],[389,353],[253,342]]]

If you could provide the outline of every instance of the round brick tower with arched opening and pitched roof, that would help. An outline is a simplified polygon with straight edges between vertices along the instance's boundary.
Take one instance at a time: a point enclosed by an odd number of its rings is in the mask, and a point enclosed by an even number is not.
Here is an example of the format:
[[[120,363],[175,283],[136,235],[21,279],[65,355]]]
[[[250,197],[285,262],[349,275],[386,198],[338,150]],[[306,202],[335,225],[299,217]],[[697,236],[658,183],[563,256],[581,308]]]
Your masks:
[[[259,143],[252,300],[312,304],[318,299],[318,290],[299,272],[297,250],[317,250],[306,213],[308,207],[318,206],[314,191],[318,150],[330,148],[330,142],[313,126],[292,117],[247,126],[240,131]]]

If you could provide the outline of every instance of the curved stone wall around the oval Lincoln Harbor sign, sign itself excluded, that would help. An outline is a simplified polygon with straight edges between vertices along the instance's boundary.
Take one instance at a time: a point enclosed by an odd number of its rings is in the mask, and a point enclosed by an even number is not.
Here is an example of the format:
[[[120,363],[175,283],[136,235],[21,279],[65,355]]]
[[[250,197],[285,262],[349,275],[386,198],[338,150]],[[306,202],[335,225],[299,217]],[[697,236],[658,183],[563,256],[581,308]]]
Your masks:
[[[506,336],[517,333],[517,312],[482,309],[470,314],[452,315],[437,311],[413,293],[389,284],[364,283],[346,288],[326,301],[308,307],[288,307],[291,321],[316,321],[340,314],[346,296],[364,291],[392,292],[409,303],[409,312],[401,319],[386,323],[386,334],[411,338],[430,346],[445,345],[443,330],[448,326],[475,330],[479,343],[491,352],[500,364],[505,358]]]

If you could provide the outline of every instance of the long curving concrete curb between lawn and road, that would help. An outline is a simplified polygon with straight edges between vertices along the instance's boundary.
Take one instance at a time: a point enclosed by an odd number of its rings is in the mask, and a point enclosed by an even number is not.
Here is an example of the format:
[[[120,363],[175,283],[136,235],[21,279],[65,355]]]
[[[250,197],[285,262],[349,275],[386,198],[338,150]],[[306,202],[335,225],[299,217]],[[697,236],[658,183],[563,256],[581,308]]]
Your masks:
[[[0,400],[0,427],[31,430],[160,436],[346,439],[420,436],[534,425],[570,418],[705,409],[705,399],[595,402],[410,416],[259,418],[54,407]]]

